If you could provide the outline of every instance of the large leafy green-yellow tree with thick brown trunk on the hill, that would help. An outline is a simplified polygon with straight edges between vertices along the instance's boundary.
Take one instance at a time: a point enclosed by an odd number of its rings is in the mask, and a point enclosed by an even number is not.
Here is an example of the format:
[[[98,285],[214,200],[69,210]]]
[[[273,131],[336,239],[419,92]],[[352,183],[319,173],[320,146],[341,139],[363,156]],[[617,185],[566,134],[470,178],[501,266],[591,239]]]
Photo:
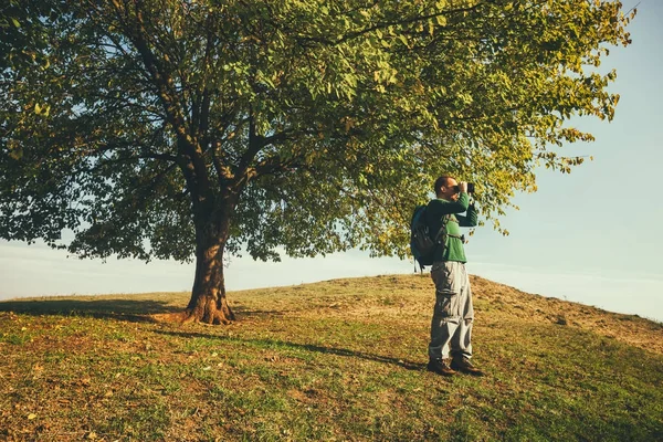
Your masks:
[[[234,318],[224,253],[407,253],[441,172],[484,218],[611,119],[619,1],[12,0],[0,238],[194,256],[185,318]],[[634,13],[634,11],[633,11]],[[64,241],[63,232],[72,235]]]

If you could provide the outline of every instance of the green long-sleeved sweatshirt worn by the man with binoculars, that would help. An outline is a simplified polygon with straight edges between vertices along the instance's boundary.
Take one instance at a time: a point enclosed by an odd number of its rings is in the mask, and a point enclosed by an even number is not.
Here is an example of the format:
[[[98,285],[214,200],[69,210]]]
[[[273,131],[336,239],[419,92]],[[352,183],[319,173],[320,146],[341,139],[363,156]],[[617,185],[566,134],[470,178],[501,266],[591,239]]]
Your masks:
[[[465,215],[457,213],[467,212]],[[446,233],[460,236],[460,228],[472,228],[478,222],[477,212],[474,206],[470,206],[470,197],[465,192],[461,192],[457,201],[448,201],[441,198],[431,200],[428,203],[425,211],[427,222],[431,231],[431,235],[435,235],[440,230],[442,220],[446,214],[451,214],[449,222],[446,223]],[[463,248],[463,241],[459,238],[446,238],[446,246],[444,253],[441,249],[435,251],[433,261],[457,261],[465,263],[465,249]]]

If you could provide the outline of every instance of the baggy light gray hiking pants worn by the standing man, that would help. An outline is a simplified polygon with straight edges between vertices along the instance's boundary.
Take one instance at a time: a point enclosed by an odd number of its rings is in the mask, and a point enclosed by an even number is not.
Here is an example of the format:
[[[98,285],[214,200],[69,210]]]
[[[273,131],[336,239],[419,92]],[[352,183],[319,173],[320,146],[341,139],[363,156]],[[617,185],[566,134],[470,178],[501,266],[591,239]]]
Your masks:
[[[435,307],[431,323],[429,357],[471,358],[474,307],[465,264],[455,261],[434,262],[431,277],[435,283]]]

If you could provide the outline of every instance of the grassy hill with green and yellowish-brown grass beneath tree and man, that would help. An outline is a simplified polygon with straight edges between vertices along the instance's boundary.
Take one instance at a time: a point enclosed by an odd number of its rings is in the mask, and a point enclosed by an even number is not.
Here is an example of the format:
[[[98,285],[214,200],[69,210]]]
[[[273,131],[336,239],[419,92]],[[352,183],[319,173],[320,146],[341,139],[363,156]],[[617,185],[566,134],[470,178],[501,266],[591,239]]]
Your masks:
[[[662,324],[472,283],[483,378],[425,371],[428,275],[0,303],[0,440],[663,440]]]

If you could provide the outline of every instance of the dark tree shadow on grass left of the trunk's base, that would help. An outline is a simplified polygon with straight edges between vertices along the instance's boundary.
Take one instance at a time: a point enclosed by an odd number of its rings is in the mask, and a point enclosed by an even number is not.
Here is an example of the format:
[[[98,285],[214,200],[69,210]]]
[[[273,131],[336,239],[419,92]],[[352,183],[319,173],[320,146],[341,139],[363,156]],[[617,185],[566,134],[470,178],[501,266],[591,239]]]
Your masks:
[[[64,315],[152,323],[151,315],[181,312],[166,301],[124,298],[12,299],[0,302],[0,312],[24,315]],[[140,313],[137,313],[140,312]]]

